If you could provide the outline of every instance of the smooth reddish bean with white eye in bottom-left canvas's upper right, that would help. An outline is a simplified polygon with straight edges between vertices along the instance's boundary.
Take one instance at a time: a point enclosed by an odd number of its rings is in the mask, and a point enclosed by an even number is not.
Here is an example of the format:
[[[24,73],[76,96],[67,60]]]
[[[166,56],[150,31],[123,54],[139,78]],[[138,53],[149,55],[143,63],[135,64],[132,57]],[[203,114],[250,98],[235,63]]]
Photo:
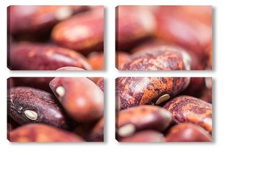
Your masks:
[[[78,123],[91,123],[103,116],[104,94],[86,77],[56,77],[50,89],[67,114]]]

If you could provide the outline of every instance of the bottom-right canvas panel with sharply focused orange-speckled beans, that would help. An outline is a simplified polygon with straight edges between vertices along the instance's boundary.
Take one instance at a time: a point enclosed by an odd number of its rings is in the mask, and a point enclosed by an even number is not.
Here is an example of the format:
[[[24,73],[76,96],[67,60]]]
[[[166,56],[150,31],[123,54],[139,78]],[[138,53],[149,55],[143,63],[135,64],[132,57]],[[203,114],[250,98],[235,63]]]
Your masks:
[[[118,142],[212,142],[211,77],[118,77]]]

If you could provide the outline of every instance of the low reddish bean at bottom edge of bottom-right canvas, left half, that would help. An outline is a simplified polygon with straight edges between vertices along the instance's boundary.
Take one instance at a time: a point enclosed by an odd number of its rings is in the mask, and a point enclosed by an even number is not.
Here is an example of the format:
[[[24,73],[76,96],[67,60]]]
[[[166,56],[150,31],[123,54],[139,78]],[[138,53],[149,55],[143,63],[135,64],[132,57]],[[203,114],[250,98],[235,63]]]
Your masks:
[[[158,131],[144,130],[122,138],[118,142],[165,142],[165,137]]]

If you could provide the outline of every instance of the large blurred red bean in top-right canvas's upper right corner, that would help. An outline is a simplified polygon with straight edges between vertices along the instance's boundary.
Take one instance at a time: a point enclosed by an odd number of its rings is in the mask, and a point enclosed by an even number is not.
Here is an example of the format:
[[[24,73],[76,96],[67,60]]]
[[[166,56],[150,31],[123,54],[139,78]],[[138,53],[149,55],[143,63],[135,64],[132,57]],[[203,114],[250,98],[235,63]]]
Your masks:
[[[159,7],[156,35],[192,50],[203,59],[212,40],[211,6]]]

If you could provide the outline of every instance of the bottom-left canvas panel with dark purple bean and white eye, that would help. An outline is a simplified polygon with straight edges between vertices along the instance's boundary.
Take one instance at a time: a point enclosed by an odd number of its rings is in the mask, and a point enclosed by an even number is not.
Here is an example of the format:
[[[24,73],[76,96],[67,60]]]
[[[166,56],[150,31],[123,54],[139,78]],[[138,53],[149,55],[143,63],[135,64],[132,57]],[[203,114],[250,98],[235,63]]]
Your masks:
[[[8,79],[10,142],[103,142],[103,87],[86,77],[47,77],[50,91],[34,88],[44,79]]]

